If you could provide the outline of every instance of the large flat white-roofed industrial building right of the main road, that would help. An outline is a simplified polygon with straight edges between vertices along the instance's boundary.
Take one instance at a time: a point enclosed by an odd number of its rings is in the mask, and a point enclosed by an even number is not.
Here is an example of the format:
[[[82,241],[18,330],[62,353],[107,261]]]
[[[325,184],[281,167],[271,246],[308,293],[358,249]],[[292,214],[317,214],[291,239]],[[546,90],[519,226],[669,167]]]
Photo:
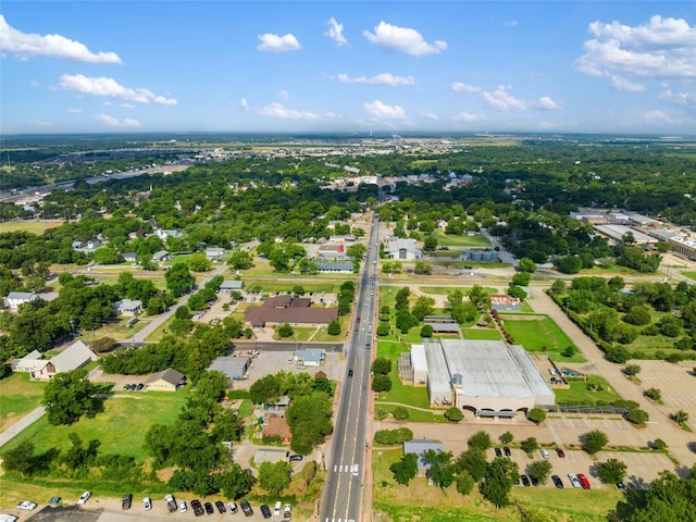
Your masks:
[[[455,405],[476,417],[514,418],[554,405],[555,395],[530,355],[502,340],[423,339],[411,345],[413,385],[432,407]]]

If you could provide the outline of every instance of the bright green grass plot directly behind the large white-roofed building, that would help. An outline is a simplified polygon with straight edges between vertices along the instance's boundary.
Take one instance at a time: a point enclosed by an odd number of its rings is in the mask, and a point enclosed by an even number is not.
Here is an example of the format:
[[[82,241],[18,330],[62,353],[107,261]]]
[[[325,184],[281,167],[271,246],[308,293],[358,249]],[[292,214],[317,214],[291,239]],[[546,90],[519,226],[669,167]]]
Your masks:
[[[568,346],[575,346],[561,332],[558,325],[550,318],[544,315],[532,320],[504,319],[504,325],[514,343],[520,344],[525,350],[532,353],[548,355],[555,361],[560,362],[584,362],[585,358],[580,351],[573,357],[563,357],[563,351]]]

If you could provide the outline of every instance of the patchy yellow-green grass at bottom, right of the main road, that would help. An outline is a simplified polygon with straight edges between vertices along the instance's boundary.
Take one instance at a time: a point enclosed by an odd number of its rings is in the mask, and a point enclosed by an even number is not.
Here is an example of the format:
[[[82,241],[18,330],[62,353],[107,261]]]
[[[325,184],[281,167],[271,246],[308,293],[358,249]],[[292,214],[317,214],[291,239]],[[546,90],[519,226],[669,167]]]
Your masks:
[[[424,477],[417,477],[408,486],[396,483],[389,465],[401,458],[401,450],[374,450],[374,514],[373,519],[391,522],[519,522],[522,507],[537,517],[529,520],[558,522],[595,522],[605,520],[616,508],[621,494],[616,489],[586,492],[552,487],[512,489],[512,506],[495,509],[474,488],[468,496],[453,486],[442,490],[428,486]]]

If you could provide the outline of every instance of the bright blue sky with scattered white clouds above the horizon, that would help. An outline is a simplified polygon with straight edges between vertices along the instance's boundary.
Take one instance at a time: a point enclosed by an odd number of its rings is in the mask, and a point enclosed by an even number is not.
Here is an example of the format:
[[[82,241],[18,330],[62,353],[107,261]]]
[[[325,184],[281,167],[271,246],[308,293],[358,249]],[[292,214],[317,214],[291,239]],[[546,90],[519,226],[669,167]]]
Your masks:
[[[0,133],[696,134],[696,2],[0,4]]]

